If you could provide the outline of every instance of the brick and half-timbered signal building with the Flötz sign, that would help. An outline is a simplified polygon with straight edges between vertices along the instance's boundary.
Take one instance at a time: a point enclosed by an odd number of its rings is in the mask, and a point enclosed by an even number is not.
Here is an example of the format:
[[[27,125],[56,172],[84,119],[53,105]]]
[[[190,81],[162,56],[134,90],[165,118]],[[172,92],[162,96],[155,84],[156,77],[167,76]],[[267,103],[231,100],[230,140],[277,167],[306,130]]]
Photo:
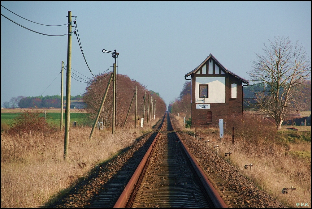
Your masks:
[[[249,82],[226,69],[212,54],[184,78],[191,80],[192,127],[218,124],[219,119],[241,114],[242,83]]]

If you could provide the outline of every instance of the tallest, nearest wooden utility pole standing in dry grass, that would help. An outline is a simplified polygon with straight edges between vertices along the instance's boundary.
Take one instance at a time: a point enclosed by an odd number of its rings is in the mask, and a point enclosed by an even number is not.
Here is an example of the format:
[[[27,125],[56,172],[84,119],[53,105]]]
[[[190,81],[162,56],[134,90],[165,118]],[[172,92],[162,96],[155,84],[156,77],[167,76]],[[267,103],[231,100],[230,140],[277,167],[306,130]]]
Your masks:
[[[65,108],[65,135],[64,135],[64,160],[68,155],[69,116],[71,103],[71,11],[68,11],[68,36],[67,36],[67,71],[66,71],[66,108]]]

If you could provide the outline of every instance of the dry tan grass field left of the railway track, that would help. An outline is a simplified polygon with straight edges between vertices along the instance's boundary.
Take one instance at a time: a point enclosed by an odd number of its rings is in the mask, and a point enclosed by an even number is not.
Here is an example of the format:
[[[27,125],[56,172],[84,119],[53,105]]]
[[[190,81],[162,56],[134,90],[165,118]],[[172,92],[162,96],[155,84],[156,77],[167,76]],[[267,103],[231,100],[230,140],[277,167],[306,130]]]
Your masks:
[[[63,160],[64,132],[1,134],[1,207],[38,207],[119,150],[131,145],[144,129],[98,131],[89,140],[90,127],[71,128],[69,157]]]

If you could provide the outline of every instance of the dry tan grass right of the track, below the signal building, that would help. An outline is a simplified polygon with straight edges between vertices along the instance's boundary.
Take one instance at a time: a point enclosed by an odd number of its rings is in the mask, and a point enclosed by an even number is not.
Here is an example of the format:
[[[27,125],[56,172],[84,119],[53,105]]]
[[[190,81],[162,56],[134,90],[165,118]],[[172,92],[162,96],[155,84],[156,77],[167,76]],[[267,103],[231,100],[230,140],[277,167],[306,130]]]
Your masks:
[[[188,130],[181,126],[183,117],[174,118],[178,120],[181,130]],[[232,146],[232,135],[225,135],[220,142],[217,128],[189,130],[199,133],[204,140],[209,140],[209,147],[212,149],[214,145],[219,145],[220,157],[235,165],[242,175],[280,202],[290,207],[295,207],[297,202],[311,205],[311,142],[299,141],[283,146],[273,141],[252,143],[250,140],[236,138],[235,145]],[[227,152],[232,153],[231,159],[225,156]],[[253,166],[245,169],[245,164]],[[288,194],[281,193],[283,188],[290,187],[296,190]]]

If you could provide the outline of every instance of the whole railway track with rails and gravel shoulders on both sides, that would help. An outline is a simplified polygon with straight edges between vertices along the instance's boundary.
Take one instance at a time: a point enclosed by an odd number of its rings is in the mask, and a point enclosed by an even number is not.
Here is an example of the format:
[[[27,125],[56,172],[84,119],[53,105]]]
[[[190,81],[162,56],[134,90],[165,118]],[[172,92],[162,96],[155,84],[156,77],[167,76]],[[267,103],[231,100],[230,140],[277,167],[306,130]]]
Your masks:
[[[285,207],[200,140],[174,131],[168,113],[157,126],[45,207]]]

